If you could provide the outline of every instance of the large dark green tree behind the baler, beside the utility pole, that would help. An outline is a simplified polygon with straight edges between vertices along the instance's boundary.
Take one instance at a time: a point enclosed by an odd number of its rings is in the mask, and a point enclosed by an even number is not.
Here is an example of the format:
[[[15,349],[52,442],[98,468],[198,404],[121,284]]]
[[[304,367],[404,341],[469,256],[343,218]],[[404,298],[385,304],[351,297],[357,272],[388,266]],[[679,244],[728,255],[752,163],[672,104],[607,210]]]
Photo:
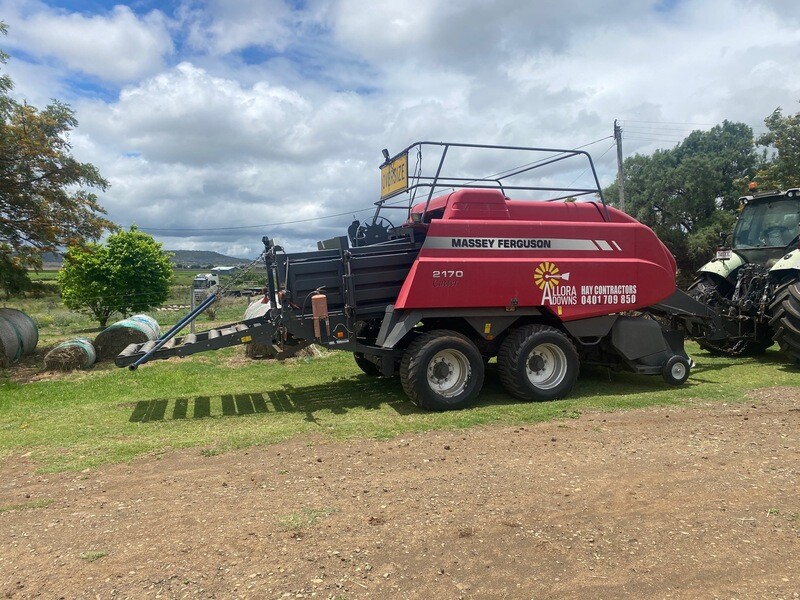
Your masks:
[[[656,232],[681,270],[692,273],[708,260],[719,234],[731,231],[757,158],[753,132],[743,123],[693,131],[674,148],[625,159],[625,208]],[[617,184],[604,194],[616,198]]]

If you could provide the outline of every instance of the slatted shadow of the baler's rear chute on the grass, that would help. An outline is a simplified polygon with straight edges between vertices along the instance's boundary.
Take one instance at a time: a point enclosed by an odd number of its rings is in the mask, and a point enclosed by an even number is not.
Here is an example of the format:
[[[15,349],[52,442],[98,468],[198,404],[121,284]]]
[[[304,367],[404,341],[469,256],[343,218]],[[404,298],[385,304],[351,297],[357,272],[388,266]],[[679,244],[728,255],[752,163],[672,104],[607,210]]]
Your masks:
[[[148,423],[305,413],[306,420],[316,422],[314,413],[317,411],[344,414],[354,408],[377,410],[382,405],[388,405],[403,415],[421,412],[408,401],[396,380],[359,376],[312,386],[286,385],[268,392],[140,400],[136,402],[129,421]]]

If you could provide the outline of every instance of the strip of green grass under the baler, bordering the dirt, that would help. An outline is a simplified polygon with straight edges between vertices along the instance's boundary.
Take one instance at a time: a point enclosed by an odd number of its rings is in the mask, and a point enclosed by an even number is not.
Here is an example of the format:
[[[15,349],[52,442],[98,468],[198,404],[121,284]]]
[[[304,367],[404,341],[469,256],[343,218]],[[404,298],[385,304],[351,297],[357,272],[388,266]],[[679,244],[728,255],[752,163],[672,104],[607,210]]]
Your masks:
[[[364,376],[344,352],[275,363],[250,361],[242,348],[230,348],[136,372],[106,363],[27,383],[7,372],[0,379],[0,459],[27,454],[43,471],[83,469],[171,448],[197,448],[199,455],[300,434],[389,438],[594,409],[739,402],[754,388],[799,383],[797,370],[775,351],[738,359],[712,357],[691,343],[688,351],[699,364],[681,387],[660,377],[585,369],[568,399],[547,403],[510,398],[490,367],[479,402],[449,413],[416,409],[399,381]]]

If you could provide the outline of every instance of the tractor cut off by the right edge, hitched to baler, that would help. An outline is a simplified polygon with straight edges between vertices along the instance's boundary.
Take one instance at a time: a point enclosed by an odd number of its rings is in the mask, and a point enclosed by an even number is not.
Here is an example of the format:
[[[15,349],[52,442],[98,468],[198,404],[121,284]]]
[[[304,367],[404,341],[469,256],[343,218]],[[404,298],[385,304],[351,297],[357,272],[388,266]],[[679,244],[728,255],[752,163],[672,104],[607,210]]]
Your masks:
[[[740,199],[732,244],[698,271],[689,295],[713,308],[727,337],[697,336],[713,354],[758,354],[778,342],[800,362],[800,189]]]

